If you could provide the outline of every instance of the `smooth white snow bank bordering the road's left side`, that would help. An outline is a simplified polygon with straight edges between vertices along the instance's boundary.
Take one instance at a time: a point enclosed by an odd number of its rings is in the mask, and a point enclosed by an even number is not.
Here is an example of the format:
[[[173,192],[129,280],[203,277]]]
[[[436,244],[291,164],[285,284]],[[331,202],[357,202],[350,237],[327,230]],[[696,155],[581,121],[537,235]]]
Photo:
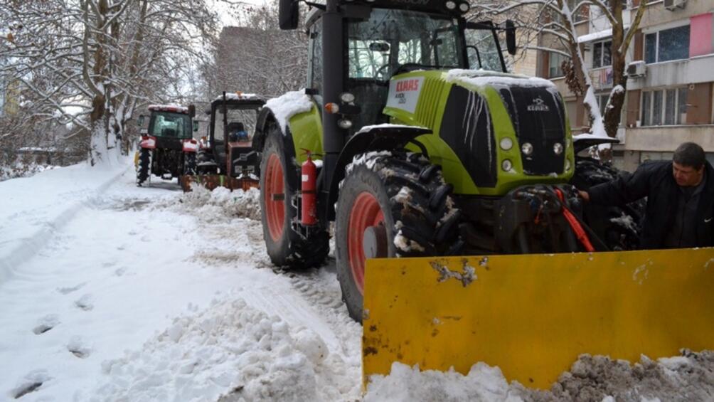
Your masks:
[[[0,286],[34,256],[79,208],[129,168],[86,163],[0,183]]]

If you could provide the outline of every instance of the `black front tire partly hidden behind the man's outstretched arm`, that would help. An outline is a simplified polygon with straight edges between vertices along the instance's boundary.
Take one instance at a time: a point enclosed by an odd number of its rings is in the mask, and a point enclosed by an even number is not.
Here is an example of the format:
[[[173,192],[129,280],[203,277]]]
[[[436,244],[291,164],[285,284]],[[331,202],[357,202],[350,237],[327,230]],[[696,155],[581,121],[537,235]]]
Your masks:
[[[618,171],[609,164],[592,158],[575,161],[575,175],[571,183],[580,190],[607,183],[628,172]],[[635,201],[626,206],[597,206],[583,204],[583,219],[600,240],[613,251],[634,250],[638,247],[640,224],[644,216],[645,201]]]

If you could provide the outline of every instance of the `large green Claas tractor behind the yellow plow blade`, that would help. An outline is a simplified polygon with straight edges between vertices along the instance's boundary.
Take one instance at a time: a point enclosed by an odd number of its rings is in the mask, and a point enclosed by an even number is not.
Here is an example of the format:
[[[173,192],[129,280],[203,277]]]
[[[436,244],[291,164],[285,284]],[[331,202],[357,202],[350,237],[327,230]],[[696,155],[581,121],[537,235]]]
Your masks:
[[[307,89],[268,101],[253,138],[273,263],[318,266],[334,223],[361,321],[367,258],[604,249],[568,185],[563,99],[506,72],[511,21],[468,22],[462,0],[308,4]],[[298,11],[281,0],[281,29]]]

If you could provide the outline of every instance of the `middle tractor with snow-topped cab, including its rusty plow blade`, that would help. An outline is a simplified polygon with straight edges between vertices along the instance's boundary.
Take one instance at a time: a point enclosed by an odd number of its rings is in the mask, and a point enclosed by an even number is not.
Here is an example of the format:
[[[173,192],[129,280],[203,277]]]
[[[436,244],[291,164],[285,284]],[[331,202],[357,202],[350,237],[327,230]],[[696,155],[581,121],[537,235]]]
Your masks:
[[[183,176],[183,191],[190,191],[192,183],[209,190],[258,186],[259,152],[253,149],[252,139],[264,104],[258,96],[242,92],[223,92],[211,102],[206,110],[207,133],[200,139],[196,154],[196,172]]]

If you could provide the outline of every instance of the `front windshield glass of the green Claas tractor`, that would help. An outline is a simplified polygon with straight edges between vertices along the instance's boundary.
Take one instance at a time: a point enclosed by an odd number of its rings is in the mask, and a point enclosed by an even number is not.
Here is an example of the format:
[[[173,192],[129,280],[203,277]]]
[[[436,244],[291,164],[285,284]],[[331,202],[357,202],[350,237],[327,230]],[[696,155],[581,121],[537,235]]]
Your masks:
[[[458,24],[446,16],[401,9],[372,9],[348,24],[350,79],[388,81],[399,66],[465,68]]]

